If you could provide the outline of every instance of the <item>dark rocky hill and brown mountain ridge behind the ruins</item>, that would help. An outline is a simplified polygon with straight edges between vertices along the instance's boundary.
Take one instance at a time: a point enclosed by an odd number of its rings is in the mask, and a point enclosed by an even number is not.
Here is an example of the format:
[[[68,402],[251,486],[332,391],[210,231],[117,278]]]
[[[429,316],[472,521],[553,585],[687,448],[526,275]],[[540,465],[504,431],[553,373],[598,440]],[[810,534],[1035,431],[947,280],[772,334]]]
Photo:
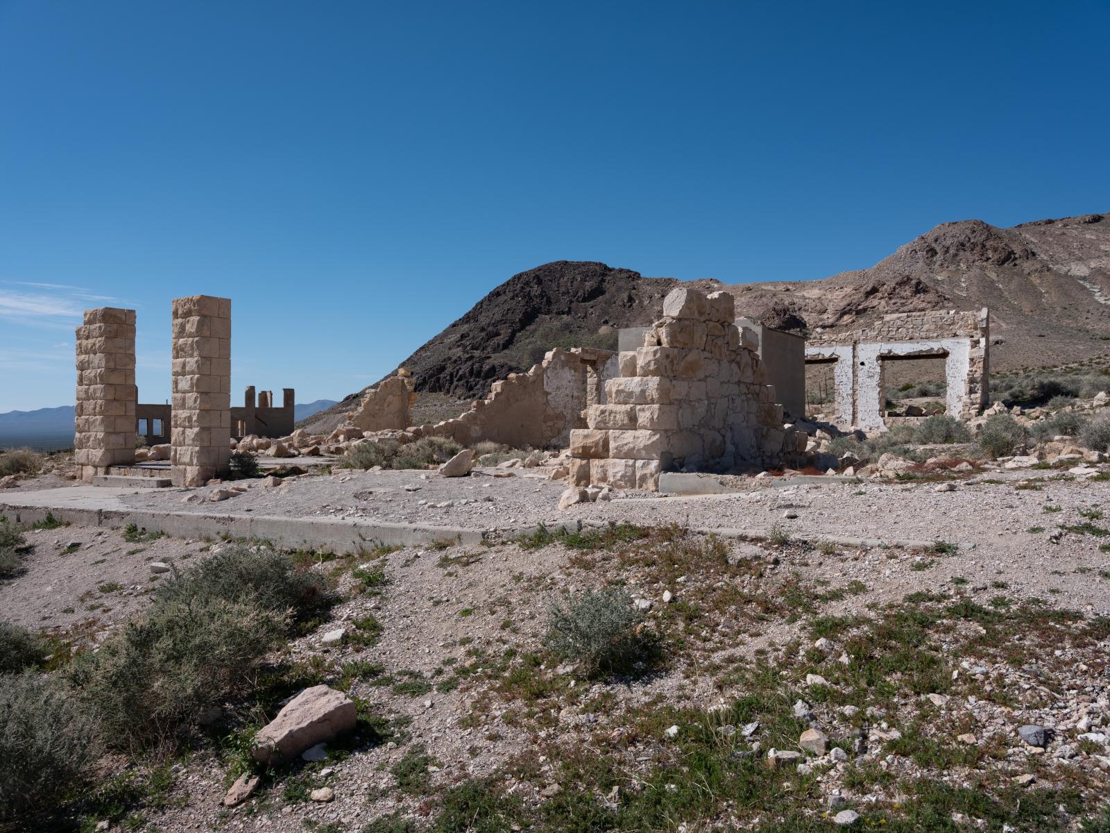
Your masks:
[[[678,283],[604,263],[556,261],[514,275],[401,362],[416,390],[457,399],[523,371],[553,347],[614,349],[616,330],[650,323]],[[1011,229],[942,223],[870,269],[824,280],[698,281],[736,295],[738,314],[771,327],[847,331],[888,312],[991,311],[992,365],[1053,365],[1104,352],[1110,339],[1110,215]],[[354,407],[351,394],[329,413]]]

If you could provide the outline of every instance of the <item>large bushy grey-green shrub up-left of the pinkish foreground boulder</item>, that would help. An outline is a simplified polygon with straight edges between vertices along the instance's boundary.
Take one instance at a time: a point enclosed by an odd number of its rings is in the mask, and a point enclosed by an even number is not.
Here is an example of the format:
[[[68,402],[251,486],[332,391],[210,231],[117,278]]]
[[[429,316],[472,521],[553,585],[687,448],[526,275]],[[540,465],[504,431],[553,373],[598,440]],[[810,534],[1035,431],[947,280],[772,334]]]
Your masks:
[[[121,749],[175,745],[199,716],[250,690],[287,616],[250,602],[155,603],[67,670],[77,697]]]

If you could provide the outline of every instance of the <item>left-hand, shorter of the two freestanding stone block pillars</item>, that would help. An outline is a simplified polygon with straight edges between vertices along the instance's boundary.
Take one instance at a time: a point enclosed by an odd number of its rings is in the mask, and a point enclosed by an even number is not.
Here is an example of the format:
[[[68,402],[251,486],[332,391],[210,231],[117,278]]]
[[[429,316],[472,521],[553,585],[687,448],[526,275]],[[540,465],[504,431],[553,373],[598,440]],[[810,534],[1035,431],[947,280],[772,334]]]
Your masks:
[[[77,420],[73,458],[81,480],[135,459],[135,311],[84,311],[77,328]]]

